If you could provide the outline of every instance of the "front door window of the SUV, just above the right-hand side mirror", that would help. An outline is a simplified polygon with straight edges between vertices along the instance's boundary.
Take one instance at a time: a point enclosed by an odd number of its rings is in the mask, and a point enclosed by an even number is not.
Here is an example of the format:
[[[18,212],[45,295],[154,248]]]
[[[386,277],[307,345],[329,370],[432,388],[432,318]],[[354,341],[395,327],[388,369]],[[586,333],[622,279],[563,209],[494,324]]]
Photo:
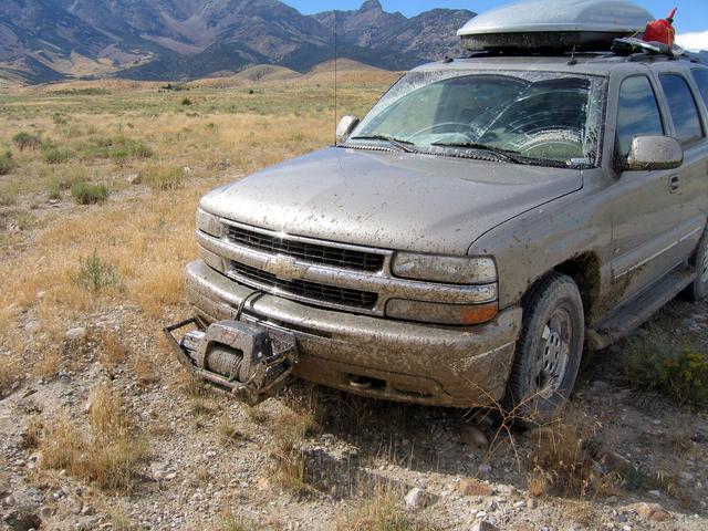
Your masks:
[[[627,77],[620,87],[618,155],[626,157],[635,136],[662,136],[664,125],[652,83],[645,75]]]

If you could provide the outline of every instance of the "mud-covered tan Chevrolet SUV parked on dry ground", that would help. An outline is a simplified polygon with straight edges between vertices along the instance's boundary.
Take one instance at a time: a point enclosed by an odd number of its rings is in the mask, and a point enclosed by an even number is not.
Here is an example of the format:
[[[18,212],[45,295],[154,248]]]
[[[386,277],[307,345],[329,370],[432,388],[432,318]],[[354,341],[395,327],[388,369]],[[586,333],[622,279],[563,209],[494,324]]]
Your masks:
[[[337,145],[201,199],[188,299],[326,386],[552,415],[585,344],[707,294],[707,104],[708,67],[642,53],[417,67]]]

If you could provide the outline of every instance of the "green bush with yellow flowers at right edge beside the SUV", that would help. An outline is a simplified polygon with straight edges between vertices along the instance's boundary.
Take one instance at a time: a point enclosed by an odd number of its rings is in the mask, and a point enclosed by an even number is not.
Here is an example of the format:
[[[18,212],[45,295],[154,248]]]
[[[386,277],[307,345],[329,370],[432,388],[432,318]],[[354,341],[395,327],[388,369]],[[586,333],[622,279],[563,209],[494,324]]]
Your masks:
[[[708,352],[653,330],[632,340],[618,360],[632,385],[681,403],[708,406]]]

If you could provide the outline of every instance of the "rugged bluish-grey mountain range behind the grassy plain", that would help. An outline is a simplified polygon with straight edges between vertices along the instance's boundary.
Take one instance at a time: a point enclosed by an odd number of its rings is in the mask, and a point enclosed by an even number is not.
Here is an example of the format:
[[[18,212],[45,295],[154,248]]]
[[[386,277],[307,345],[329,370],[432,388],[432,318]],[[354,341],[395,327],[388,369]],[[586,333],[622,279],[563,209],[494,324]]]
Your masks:
[[[2,0],[0,77],[190,80],[254,64],[305,72],[337,52],[387,70],[458,54],[476,13],[358,10],[305,15],[278,0]]]

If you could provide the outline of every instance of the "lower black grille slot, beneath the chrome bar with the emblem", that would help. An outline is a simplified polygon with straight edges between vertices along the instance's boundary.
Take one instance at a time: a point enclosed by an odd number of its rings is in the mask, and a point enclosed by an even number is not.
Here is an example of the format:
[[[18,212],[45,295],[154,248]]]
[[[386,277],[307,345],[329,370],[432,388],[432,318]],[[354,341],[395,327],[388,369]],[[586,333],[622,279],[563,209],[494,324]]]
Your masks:
[[[280,280],[272,273],[231,261],[231,271],[243,279],[251,280],[263,288],[277,288],[285,293],[344,306],[372,309],[378,295],[369,291],[337,288],[306,280]]]

